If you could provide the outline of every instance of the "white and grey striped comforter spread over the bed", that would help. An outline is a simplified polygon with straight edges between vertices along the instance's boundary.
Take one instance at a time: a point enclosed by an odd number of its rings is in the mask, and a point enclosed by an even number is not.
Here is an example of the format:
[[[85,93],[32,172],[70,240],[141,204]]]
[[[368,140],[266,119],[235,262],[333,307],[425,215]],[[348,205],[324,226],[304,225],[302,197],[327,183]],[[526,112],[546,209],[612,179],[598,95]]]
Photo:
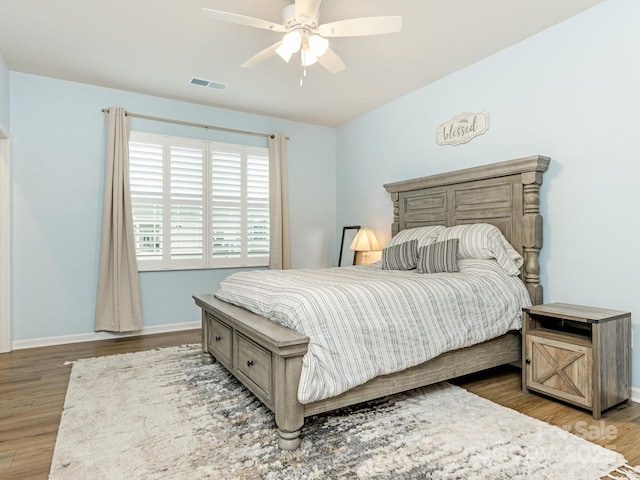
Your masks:
[[[309,403],[520,328],[530,305],[522,281],[494,260],[458,265],[437,274],[379,262],[240,272],[216,296],[309,336],[298,387]]]

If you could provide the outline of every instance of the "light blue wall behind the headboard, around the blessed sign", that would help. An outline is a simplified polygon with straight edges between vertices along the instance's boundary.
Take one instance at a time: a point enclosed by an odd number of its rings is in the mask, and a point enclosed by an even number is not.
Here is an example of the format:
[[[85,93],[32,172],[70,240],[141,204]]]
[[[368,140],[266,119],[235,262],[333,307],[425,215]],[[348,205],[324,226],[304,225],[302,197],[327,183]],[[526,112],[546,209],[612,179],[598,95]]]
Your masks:
[[[389,238],[382,184],[552,157],[541,189],[545,301],[632,312],[640,387],[640,2],[608,0],[338,129],[338,225]],[[438,146],[436,127],[486,111],[490,128]]]

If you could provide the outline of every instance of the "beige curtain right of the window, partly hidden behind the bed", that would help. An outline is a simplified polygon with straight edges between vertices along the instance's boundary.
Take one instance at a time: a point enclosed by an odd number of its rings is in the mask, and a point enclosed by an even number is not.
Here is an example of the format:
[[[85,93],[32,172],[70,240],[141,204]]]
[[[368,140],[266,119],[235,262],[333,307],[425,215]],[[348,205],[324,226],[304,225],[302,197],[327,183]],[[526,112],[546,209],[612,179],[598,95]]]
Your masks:
[[[277,270],[290,267],[286,150],[287,137],[269,137],[269,268]]]

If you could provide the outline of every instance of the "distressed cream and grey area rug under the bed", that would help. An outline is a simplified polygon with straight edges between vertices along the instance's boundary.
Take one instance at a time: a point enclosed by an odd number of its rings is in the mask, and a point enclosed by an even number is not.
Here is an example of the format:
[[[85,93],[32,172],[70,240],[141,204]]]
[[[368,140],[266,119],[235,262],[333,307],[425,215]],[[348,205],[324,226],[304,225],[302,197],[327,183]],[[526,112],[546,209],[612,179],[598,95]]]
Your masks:
[[[588,480],[624,464],[447,383],[306,419],[280,451],[273,414],[187,345],[75,362],[49,478]]]

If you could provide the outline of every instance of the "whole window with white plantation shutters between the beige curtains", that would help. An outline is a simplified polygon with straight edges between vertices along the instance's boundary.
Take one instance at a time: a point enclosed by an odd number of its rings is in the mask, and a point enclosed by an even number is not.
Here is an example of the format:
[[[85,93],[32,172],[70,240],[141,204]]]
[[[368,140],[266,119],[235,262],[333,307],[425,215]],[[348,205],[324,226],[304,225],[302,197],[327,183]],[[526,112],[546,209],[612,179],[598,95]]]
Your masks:
[[[139,270],[269,263],[269,156],[248,147],[131,132]]]

